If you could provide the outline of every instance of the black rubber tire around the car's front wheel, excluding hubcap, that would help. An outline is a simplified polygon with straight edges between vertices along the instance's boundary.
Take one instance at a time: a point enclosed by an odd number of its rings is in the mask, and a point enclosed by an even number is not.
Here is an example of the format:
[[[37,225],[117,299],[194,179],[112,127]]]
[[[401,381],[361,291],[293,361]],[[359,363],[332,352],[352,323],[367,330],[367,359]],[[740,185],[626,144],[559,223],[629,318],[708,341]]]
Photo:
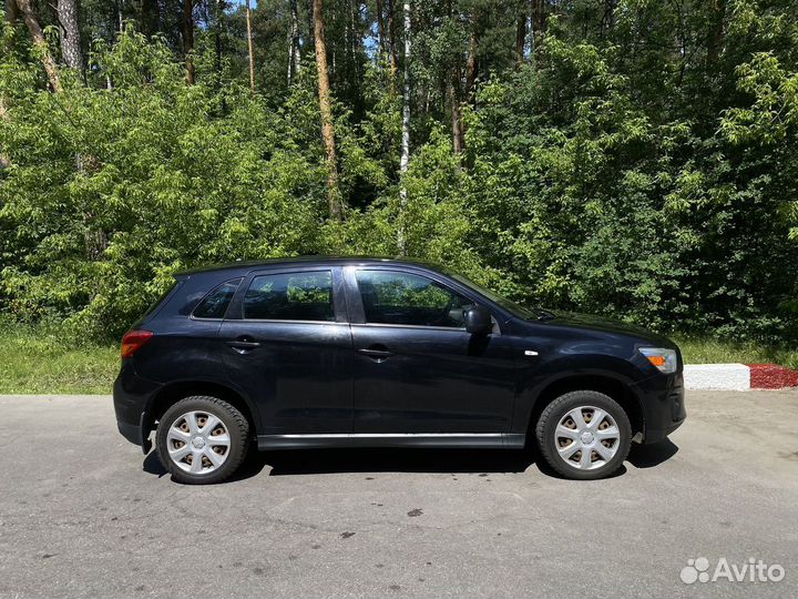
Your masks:
[[[601,466],[592,467],[591,469],[581,469],[576,466],[571,466],[565,458],[560,457],[557,450],[559,443],[567,444],[567,439],[563,439],[562,441],[557,440],[556,427],[571,410],[587,406],[603,409],[610,418],[615,422],[618,428],[618,438],[614,443],[617,443],[618,447],[613,457]],[[587,410],[584,414],[586,419],[589,416],[592,417],[595,412],[591,413]],[[607,423],[610,420],[607,420]],[[601,424],[603,423],[600,423],[600,425]],[[576,480],[595,480],[613,475],[623,465],[632,444],[632,425],[624,409],[611,397],[593,390],[576,390],[557,397],[545,407],[543,414],[541,414],[538,419],[535,437],[538,438],[538,447],[540,448],[541,455],[556,473],[565,478]],[[581,455],[581,450],[579,455]],[[597,454],[589,454],[589,458],[585,459],[592,459],[592,457],[596,457],[596,461],[598,460]]]

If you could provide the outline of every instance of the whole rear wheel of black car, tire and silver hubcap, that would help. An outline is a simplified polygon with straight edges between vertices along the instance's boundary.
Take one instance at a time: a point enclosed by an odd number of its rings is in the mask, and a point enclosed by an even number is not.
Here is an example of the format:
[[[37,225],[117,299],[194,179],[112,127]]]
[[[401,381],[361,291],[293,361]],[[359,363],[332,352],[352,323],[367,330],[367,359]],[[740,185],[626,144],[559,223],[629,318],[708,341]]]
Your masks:
[[[181,399],[161,417],[158,457],[180,483],[219,483],[241,466],[249,439],[249,423],[234,406],[216,397]]]

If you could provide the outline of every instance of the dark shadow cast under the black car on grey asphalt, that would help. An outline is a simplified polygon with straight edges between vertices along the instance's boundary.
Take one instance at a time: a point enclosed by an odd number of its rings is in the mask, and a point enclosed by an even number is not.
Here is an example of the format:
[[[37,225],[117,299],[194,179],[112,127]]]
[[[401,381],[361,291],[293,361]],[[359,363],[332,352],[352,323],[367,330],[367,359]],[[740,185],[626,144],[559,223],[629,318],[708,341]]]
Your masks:
[[[653,468],[673,457],[678,447],[666,439],[654,445],[633,445],[627,461],[635,468]],[[268,476],[300,476],[337,473],[419,473],[419,474],[494,474],[523,473],[530,467],[552,478],[564,478],[528,449],[294,449],[257,451],[250,449],[246,460],[229,478],[244,480],[268,469]],[[142,469],[162,477],[166,469],[155,451],[145,458]],[[614,477],[623,476],[622,466]]]

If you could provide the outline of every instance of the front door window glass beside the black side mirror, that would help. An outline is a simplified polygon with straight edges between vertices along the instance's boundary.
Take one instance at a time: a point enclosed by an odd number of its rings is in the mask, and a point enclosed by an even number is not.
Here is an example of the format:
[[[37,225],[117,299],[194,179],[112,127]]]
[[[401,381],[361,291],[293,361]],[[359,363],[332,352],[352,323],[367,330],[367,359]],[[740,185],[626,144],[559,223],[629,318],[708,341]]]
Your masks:
[[[426,276],[391,271],[357,271],[367,323],[464,326],[473,302]]]

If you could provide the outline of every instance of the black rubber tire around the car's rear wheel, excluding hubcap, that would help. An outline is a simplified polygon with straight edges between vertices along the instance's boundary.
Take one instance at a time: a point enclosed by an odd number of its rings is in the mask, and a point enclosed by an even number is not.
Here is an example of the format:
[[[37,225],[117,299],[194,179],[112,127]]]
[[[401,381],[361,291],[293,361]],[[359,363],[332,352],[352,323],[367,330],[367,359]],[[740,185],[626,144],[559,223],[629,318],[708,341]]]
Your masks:
[[[181,468],[168,454],[168,428],[177,418],[184,414],[197,412],[213,415],[224,425],[229,435],[229,446],[224,450],[226,458],[221,466],[214,470],[206,473],[190,473]],[[171,406],[158,422],[157,432],[155,434],[155,445],[157,447],[158,458],[164,465],[172,478],[178,483],[186,485],[209,485],[221,483],[233,475],[241,466],[246,456],[249,446],[249,423],[244,415],[227,402],[217,397],[208,397],[196,395],[181,399]],[[180,443],[177,444],[180,445]],[[212,456],[213,457],[213,456]],[[209,464],[209,461],[208,461]]]

